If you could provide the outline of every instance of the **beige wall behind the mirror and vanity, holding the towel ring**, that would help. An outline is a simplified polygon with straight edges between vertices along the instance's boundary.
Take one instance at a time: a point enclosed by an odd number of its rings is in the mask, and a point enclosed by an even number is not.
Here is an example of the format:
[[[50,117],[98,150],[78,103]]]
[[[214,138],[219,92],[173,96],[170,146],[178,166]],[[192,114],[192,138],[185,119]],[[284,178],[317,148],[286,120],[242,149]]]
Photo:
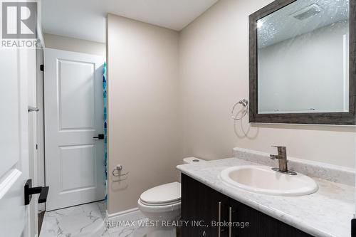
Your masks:
[[[317,125],[234,125],[234,102],[248,99],[248,15],[271,1],[221,0],[180,33],[184,155],[231,157],[232,147],[354,167],[355,129]]]

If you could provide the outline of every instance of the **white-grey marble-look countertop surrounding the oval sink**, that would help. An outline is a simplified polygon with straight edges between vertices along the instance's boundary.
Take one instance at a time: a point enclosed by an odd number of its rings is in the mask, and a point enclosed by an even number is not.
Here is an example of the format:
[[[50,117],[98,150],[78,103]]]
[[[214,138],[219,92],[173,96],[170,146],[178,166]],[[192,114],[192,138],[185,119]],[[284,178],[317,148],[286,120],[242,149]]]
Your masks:
[[[219,178],[221,170],[237,165],[255,164],[228,158],[196,164],[182,164],[177,169],[206,186],[240,201],[290,226],[313,236],[351,236],[350,221],[355,210],[355,187],[313,178],[319,185],[306,196],[271,196],[231,188]]]

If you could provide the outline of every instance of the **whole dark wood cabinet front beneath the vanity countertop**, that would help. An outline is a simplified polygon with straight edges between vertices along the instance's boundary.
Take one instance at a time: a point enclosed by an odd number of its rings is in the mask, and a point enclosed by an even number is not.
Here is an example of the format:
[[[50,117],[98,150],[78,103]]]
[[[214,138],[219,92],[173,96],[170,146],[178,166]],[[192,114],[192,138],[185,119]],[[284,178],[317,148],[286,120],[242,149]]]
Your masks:
[[[310,236],[185,174],[182,174],[182,221],[187,223],[182,227],[182,237]]]

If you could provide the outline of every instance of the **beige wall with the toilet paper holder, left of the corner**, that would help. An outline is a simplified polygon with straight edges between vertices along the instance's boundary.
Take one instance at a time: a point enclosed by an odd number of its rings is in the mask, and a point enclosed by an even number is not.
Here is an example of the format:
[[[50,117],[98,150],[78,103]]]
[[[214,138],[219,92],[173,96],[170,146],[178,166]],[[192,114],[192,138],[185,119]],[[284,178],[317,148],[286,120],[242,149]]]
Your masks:
[[[181,163],[178,33],[108,15],[109,214],[137,207],[143,191],[175,181]],[[130,172],[115,181],[122,164]]]

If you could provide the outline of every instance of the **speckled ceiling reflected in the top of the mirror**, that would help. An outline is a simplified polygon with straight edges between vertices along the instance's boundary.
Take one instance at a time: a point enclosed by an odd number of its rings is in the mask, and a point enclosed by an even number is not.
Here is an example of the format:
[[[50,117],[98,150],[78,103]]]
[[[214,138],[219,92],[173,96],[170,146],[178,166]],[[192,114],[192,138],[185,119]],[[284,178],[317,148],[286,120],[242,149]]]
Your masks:
[[[303,20],[293,17],[295,13],[308,9],[311,5],[317,5],[320,12]],[[348,19],[349,0],[298,0],[259,20],[261,25],[257,30],[258,48]]]

